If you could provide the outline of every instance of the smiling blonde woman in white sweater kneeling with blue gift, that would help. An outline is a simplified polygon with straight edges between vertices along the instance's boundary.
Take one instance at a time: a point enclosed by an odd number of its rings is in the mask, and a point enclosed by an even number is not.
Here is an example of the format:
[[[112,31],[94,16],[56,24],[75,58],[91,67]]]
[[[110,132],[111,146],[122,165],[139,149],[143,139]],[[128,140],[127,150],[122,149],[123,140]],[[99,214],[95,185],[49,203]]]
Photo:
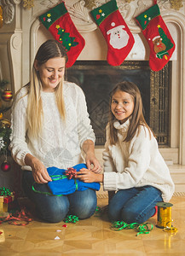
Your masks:
[[[48,222],[59,222],[68,212],[89,218],[97,202],[94,189],[48,196],[47,183],[52,181],[49,167],[67,169],[86,163],[92,172],[101,172],[84,92],[77,84],[64,81],[66,61],[61,43],[43,43],[35,57],[31,80],[18,91],[12,108],[11,153],[24,170],[22,186],[26,195],[36,204],[39,218]],[[43,193],[36,194],[33,183],[38,183]]]

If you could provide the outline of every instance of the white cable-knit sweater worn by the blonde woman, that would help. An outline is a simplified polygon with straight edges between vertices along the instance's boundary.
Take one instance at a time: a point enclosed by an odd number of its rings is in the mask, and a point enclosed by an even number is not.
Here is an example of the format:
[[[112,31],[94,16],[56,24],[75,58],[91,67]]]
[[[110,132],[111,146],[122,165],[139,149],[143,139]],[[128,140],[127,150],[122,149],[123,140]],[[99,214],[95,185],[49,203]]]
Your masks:
[[[41,92],[43,132],[35,139],[27,129],[27,89],[25,86],[20,90],[12,108],[9,148],[14,160],[23,170],[30,171],[31,167],[25,164],[28,153],[41,160],[46,168],[55,166],[66,169],[84,162],[82,144],[87,139],[95,142],[95,134],[90,125],[83,90],[77,84],[64,82],[66,122],[62,121],[56,106],[55,93]]]

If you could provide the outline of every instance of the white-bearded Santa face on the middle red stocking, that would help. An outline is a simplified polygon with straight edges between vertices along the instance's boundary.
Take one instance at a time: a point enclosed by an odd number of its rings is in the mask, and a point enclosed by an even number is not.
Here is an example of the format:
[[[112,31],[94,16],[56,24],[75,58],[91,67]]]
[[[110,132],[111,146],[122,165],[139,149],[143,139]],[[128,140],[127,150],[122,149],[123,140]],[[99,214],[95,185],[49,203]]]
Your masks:
[[[115,23],[113,22],[111,26],[115,26]],[[122,49],[128,44],[129,35],[124,30],[124,28],[124,25],[119,25],[107,31],[107,35],[110,34],[109,43],[113,46],[114,49]]]

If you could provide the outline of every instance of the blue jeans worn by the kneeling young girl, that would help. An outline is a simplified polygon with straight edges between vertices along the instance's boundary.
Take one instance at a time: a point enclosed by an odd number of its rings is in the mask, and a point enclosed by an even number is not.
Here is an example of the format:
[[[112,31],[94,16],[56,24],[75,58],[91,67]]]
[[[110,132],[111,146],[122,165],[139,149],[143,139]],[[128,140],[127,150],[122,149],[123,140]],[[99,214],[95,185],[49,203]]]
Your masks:
[[[153,186],[119,190],[109,202],[108,216],[111,221],[141,224],[153,216],[159,201],[161,191]]]

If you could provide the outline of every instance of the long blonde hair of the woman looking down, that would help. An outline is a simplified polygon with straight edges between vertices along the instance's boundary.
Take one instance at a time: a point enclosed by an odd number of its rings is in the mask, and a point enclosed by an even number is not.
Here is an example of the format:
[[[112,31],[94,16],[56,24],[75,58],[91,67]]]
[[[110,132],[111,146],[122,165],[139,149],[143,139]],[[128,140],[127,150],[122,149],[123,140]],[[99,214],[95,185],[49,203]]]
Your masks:
[[[46,61],[49,61],[49,59],[55,57],[63,57],[67,61],[66,49],[61,45],[61,43],[50,39],[39,47],[35,60],[38,61],[38,66],[40,66]],[[28,102],[26,110],[28,129],[33,137],[38,137],[38,133],[42,131],[43,128],[43,105],[41,99],[41,90],[43,89],[39,73],[36,71],[34,66],[32,67],[31,79],[28,86]],[[65,105],[62,89],[63,79],[55,88],[55,101],[59,109],[59,113],[61,114],[61,118],[65,119]]]

